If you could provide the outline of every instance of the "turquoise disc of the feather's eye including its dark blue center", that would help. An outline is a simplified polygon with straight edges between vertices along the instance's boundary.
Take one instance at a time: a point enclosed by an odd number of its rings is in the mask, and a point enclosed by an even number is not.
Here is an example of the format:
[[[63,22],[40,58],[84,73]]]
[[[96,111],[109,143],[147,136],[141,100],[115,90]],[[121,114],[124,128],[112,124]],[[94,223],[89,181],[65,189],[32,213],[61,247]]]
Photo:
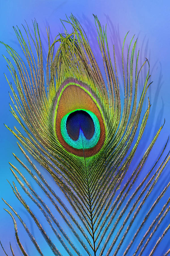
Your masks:
[[[73,148],[92,148],[100,137],[99,120],[89,110],[76,109],[61,119],[61,135]]]

